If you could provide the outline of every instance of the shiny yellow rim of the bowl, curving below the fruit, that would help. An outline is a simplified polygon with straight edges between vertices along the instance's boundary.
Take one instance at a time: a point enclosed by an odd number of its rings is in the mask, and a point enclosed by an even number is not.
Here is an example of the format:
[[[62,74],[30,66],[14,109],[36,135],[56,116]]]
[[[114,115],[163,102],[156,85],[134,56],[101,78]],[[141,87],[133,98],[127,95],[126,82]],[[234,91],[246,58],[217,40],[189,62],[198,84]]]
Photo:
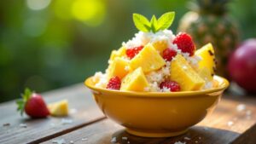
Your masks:
[[[129,95],[129,96],[139,96],[139,97],[183,97],[183,96],[198,96],[198,95],[205,95],[210,94],[214,92],[220,92],[224,89],[227,89],[230,85],[229,81],[226,78],[214,75],[214,79],[220,83],[220,86],[218,88],[213,89],[202,89],[202,90],[196,90],[196,91],[179,91],[179,92],[137,92],[137,91],[120,91],[120,90],[113,90],[113,89],[102,89],[95,87],[92,84],[92,78],[93,76],[86,78],[84,81],[84,85],[97,92],[104,92],[108,94],[113,95]]]

